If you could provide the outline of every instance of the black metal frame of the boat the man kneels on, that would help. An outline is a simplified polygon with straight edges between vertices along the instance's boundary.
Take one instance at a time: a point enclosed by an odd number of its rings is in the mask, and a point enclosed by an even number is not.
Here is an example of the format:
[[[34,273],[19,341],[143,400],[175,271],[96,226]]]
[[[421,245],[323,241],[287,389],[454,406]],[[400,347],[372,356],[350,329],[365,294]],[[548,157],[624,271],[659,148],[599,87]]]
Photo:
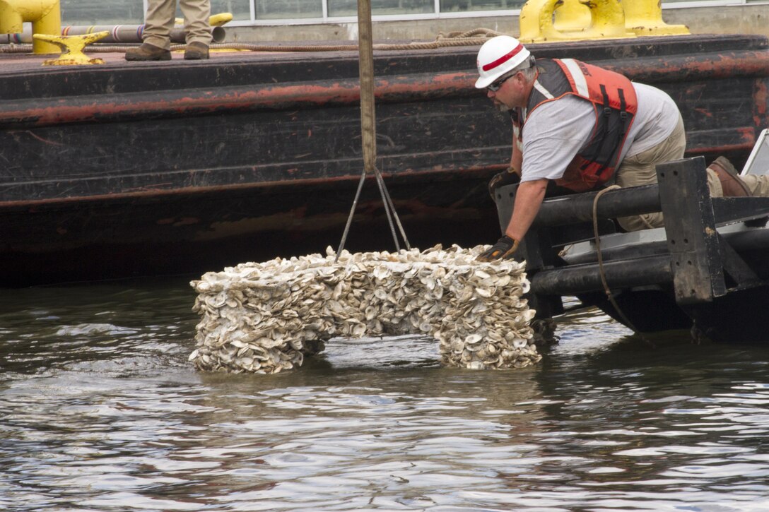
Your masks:
[[[585,242],[576,251],[581,254],[561,252],[575,235],[585,239],[582,224],[592,216],[596,192],[544,201],[516,253],[526,261],[528,298],[537,318],[560,314],[564,295],[577,295],[584,306],[597,305],[634,331],[694,327],[693,332],[724,340],[734,332],[732,316],[743,318],[747,310],[769,304],[769,228],[764,226],[769,198],[711,198],[703,157],[657,165],[657,181],[601,196],[599,220],[649,211],[662,211],[665,218],[665,227],[643,243],[637,234],[611,234],[599,223],[601,240],[627,242],[602,247],[602,258],[595,245],[585,250]],[[496,195],[503,228],[515,188],[501,187]],[[766,341],[763,327],[744,318],[737,324],[739,339]]]

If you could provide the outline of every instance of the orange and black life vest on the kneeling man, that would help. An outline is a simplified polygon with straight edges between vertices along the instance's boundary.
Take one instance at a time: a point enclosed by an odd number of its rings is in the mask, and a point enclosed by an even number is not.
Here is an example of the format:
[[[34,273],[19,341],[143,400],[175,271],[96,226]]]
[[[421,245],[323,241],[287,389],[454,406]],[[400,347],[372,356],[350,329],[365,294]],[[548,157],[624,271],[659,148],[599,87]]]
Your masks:
[[[555,183],[578,192],[603,185],[619,165],[622,147],[638,111],[633,84],[619,73],[571,58],[537,59],[537,69],[526,109],[515,109],[512,115],[518,139],[523,140],[525,120],[539,105],[565,95],[590,101],[595,112],[590,141]]]

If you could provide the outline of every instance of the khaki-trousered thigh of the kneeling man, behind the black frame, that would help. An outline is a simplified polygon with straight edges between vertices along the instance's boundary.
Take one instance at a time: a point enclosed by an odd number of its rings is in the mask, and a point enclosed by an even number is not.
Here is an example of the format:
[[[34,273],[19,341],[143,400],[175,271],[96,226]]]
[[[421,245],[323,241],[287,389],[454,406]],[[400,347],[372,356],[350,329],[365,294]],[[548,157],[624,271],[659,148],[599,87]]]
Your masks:
[[[642,151],[638,155],[625,158],[617,170],[615,182],[622,188],[638,187],[657,183],[655,166],[666,161],[684,158],[686,149],[686,132],[684,121],[678,117],[678,123],[671,133],[654,148]],[[617,219],[625,231],[639,231],[647,228],[659,228],[663,225],[661,212],[634,215]]]

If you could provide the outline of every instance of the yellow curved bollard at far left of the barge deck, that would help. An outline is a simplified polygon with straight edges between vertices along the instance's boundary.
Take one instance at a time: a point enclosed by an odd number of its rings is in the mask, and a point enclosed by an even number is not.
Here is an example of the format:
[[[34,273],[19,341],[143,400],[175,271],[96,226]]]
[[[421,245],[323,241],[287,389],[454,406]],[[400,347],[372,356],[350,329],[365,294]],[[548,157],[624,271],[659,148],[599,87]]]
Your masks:
[[[58,0],[0,0],[0,34],[22,32],[23,23],[32,22],[33,34],[62,33],[62,9]],[[57,53],[45,39],[32,42],[33,53]]]

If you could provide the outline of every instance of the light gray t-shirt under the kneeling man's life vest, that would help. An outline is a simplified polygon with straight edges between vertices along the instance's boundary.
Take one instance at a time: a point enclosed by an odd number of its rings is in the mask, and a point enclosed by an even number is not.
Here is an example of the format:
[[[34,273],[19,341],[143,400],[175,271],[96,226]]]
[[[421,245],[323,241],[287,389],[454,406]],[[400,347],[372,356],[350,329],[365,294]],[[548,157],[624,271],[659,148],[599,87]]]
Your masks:
[[[633,83],[638,111],[622,148],[620,161],[653,148],[671,135],[680,113],[670,96],[651,85]],[[595,122],[593,105],[566,95],[538,106],[526,119],[521,181],[561,178],[588,145]]]

